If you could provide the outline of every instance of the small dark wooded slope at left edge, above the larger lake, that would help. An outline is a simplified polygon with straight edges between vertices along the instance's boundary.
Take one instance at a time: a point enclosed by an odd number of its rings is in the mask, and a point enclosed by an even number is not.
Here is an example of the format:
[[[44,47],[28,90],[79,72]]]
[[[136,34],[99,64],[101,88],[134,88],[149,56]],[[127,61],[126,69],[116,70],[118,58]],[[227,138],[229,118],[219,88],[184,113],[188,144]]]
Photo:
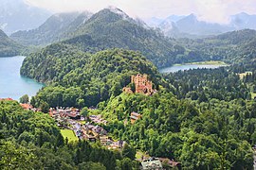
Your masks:
[[[0,29],[0,57],[19,55],[21,49],[22,45],[9,39],[4,31]]]

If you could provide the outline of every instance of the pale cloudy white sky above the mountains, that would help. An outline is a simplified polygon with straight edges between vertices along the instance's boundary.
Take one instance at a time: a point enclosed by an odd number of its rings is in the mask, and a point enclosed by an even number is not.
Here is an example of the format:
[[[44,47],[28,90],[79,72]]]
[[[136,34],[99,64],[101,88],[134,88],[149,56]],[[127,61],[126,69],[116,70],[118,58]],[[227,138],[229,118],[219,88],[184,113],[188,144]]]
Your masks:
[[[201,21],[228,24],[229,16],[240,12],[256,14],[256,0],[25,0],[28,5],[52,12],[88,10],[97,12],[117,7],[134,18],[166,18],[195,14]]]

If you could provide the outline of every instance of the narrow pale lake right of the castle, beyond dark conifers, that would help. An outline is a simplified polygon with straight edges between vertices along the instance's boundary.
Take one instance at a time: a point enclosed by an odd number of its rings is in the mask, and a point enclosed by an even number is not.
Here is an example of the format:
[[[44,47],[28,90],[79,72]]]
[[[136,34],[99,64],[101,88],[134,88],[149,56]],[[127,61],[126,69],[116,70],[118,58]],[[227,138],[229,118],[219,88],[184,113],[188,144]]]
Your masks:
[[[174,65],[171,67],[166,67],[163,69],[160,69],[159,72],[160,73],[174,73],[177,72],[179,70],[184,71],[184,70],[190,70],[190,69],[197,69],[197,68],[218,68],[221,66],[227,66],[227,65],[223,65],[223,64],[184,64],[184,65]]]

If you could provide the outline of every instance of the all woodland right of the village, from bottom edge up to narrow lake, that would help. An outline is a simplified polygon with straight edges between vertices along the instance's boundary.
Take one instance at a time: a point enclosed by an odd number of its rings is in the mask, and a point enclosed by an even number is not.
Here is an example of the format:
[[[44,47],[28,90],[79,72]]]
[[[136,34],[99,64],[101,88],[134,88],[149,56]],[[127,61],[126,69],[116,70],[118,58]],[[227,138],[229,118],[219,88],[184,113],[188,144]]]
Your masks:
[[[151,156],[181,161],[185,169],[251,169],[256,102],[239,77],[198,69],[165,79],[172,83],[153,96],[121,93],[101,102],[111,122],[106,128]],[[141,114],[135,124],[132,111]]]

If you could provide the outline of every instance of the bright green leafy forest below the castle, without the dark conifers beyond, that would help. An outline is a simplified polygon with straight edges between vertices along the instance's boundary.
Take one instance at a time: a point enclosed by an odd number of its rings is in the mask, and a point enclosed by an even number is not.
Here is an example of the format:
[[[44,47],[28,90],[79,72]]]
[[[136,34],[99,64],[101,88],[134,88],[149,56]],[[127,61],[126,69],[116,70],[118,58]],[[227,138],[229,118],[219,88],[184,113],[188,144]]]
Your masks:
[[[184,169],[252,168],[255,102],[212,98],[199,103],[161,91],[153,96],[123,93],[99,108],[112,120],[107,129],[115,137],[152,156],[181,161]],[[129,122],[131,111],[142,114],[135,124]]]

